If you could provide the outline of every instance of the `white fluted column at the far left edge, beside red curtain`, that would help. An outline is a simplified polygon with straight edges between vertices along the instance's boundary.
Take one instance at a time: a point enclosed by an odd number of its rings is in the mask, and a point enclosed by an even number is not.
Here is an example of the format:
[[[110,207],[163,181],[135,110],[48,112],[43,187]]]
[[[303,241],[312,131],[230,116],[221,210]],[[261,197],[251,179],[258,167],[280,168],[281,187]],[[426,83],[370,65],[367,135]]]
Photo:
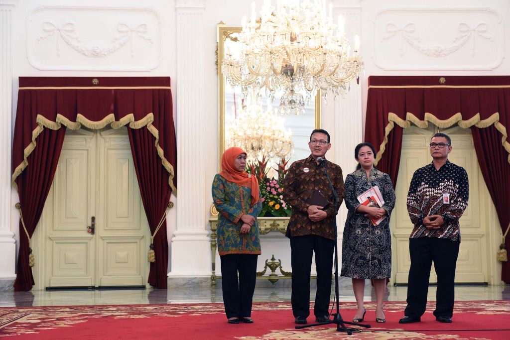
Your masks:
[[[11,231],[12,11],[13,0],[0,0],[0,290],[11,290],[16,244]]]

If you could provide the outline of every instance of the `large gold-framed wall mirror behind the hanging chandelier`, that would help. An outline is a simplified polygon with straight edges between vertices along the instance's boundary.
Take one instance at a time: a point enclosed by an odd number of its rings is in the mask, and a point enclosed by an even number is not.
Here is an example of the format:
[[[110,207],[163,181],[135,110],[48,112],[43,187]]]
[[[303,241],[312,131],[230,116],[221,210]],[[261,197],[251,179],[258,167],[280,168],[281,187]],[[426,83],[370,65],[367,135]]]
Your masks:
[[[251,150],[249,147],[245,148],[248,156],[251,156],[251,160],[256,156],[261,156],[257,150],[261,148],[262,150],[271,150],[270,154],[264,154],[266,158],[270,159],[271,167],[277,163],[275,160],[281,158],[284,153],[289,165],[296,160],[306,158],[310,154],[308,148],[310,133],[314,128],[321,127],[320,93],[311,97],[309,102],[305,101],[305,113],[301,115],[278,113],[280,97],[283,92],[276,93],[272,102],[264,93],[258,96],[248,95],[243,98],[241,88],[231,86],[221,69],[227,51],[234,54],[240,50],[238,41],[240,32],[240,27],[227,27],[223,23],[218,24],[218,169],[221,170],[223,151],[231,146],[241,146],[238,144],[241,139],[244,143],[249,142],[248,144],[251,146]],[[246,126],[246,122],[250,122],[250,126]],[[252,136],[251,134],[256,130],[256,136]],[[272,136],[264,139],[257,138],[261,133],[272,134]],[[279,137],[276,138],[277,136]]]

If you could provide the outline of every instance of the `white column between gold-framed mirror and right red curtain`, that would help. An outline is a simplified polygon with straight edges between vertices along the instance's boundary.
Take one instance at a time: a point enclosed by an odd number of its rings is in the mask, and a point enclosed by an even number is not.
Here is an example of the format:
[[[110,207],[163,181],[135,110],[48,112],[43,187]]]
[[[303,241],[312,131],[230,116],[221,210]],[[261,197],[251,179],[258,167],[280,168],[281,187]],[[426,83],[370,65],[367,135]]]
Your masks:
[[[342,8],[334,9],[334,17],[342,14],[345,18],[345,33],[350,41],[351,48],[354,48],[354,36],[361,37],[361,8],[359,0],[342,1]],[[347,7],[348,6],[348,7]],[[361,45],[361,56],[363,58],[363,45]],[[345,98],[335,100],[335,132],[331,138],[335,143],[335,160],[340,167],[344,179],[347,174],[354,171],[356,160],[354,159],[354,148],[364,141],[363,136],[363,107],[362,107],[362,79],[360,84],[356,80],[350,83],[350,91]],[[347,209],[343,203],[337,217],[338,223],[338,243],[339,260],[341,258],[342,234],[345,220],[347,218]]]

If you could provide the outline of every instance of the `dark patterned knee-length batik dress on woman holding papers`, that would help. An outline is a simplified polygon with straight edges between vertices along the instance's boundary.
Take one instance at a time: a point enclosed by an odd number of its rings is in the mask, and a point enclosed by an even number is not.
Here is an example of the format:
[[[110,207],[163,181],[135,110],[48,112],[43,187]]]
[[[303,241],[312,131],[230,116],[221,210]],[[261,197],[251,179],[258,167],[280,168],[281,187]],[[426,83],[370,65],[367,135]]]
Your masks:
[[[387,218],[378,226],[356,212],[358,196],[378,186],[385,203]],[[370,171],[370,181],[363,169],[345,179],[345,206],[349,210],[342,241],[341,276],[358,279],[384,279],[391,276],[391,233],[389,217],[395,205],[395,191],[390,176],[377,169]]]

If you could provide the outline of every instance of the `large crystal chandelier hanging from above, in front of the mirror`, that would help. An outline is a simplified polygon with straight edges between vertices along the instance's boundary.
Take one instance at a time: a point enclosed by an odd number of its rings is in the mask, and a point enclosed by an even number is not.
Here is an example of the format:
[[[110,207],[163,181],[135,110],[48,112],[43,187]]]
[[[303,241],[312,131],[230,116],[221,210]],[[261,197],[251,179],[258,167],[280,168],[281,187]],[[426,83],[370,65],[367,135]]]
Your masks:
[[[304,100],[310,102],[318,90],[327,100],[327,92],[336,96],[348,91],[347,84],[359,76],[363,61],[355,37],[351,53],[344,34],[344,18],[333,23],[333,5],[326,15],[325,0],[264,0],[260,20],[256,20],[255,3],[251,19],[243,18],[239,36],[239,54],[226,51],[222,71],[232,86],[240,86],[244,96],[263,89],[274,100],[275,91],[283,90],[281,106],[295,105],[295,114],[304,112]],[[300,99],[298,99],[300,97]],[[280,110],[283,111],[283,110]]]

